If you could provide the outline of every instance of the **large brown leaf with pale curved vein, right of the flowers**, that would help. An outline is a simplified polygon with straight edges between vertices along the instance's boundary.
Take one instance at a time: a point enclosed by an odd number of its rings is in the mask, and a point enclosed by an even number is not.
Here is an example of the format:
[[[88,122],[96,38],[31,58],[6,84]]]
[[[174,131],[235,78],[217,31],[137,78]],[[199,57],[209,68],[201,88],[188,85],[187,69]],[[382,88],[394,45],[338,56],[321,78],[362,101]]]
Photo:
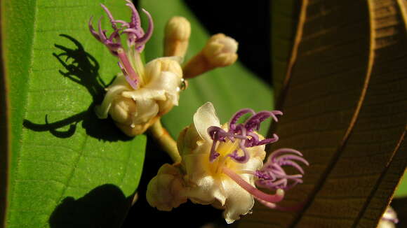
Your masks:
[[[256,204],[241,227],[375,227],[407,164],[407,34],[401,1],[302,1],[272,128],[276,148],[310,162],[281,206]],[[296,45],[298,44],[298,45]]]

